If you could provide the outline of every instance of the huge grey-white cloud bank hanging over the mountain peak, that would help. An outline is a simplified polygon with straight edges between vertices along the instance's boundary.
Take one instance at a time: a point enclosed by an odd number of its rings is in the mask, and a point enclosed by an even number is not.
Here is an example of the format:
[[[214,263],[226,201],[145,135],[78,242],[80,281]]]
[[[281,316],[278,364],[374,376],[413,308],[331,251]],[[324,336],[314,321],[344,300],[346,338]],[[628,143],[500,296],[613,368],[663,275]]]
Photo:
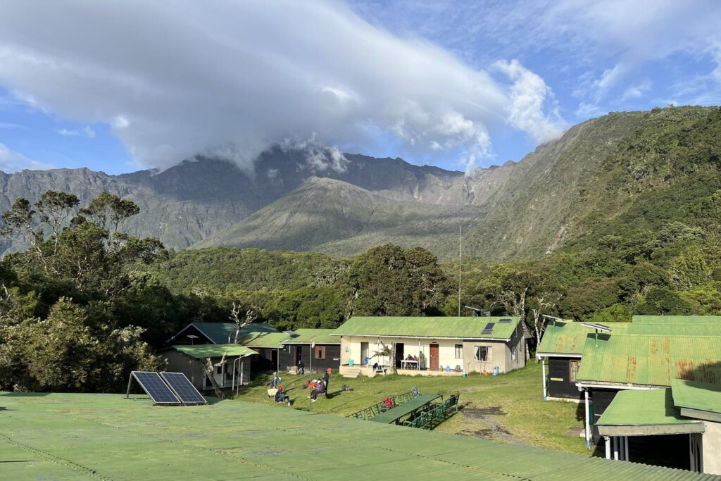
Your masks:
[[[534,138],[562,125],[542,112],[551,97],[535,74],[524,69],[509,91],[337,1],[27,0],[2,10],[0,84],[64,118],[107,123],[146,166],[198,153],[248,166],[270,144],[314,132],[319,146],[356,151],[391,134],[399,154],[460,151],[469,164],[492,156],[490,132],[508,112]]]

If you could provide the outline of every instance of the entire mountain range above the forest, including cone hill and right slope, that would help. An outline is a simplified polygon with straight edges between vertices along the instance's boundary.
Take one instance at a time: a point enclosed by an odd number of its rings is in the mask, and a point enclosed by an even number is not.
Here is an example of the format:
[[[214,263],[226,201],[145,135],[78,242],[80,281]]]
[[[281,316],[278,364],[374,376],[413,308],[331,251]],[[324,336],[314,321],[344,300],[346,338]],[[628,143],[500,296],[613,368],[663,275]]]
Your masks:
[[[106,190],[141,206],[127,226],[132,234],[159,237],[167,247],[354,255],[395,242],[452,259],[463,224],[466,255],[535,257],[609,231],[614,219],[630,228],[652,225],[663,213],[644,211],[644,199],[709,195],[719,168],[713,159],[721,156],[714,140],[721,138],[719,112],[614,112],[575,125],[517,164],[470,175],[352,154],[332,164],[280,148],[263,154],[252,171],[200,158],[119,176],[88,169],[0,174],[0,209],[45,190],[84,201]],[[684,185],[682,192],[675,185]]]

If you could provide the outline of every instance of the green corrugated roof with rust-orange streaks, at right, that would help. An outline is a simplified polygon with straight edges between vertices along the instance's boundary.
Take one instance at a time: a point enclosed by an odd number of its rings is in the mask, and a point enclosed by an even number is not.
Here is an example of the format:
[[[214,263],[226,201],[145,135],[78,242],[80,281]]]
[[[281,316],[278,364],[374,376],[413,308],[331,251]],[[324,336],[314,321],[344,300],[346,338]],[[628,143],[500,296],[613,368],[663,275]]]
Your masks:
[[[721,383],[721,339],[709,336],[593,335],[578,380],[671,386],[673,379]]]

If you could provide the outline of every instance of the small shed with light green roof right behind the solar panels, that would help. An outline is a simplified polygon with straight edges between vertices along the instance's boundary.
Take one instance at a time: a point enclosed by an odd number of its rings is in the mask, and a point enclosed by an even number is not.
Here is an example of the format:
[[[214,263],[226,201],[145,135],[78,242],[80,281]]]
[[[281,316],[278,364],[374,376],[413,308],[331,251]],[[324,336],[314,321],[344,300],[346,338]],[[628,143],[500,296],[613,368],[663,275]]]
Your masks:
[[[226,356],[226,362],[215,368],[213,379],[221,388],[230,389],[233,385],[247,384],[250,380],[250,356],[255,350],[239,344],[199,344],[174,345],[162,353],[168,361],[168,371],[182,372],[190,379],[195,389],[207,391],[213,389],[210,379],[205,376],[203,366],[207,358],[213,363]]]

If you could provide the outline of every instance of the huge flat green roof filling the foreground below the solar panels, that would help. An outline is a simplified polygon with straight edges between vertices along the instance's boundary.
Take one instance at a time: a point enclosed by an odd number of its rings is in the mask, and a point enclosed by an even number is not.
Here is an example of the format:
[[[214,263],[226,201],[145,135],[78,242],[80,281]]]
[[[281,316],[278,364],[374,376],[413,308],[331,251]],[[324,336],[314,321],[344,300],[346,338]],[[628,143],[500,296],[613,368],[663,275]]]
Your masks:
[[[717,479],[286,406],[231,400],[151,404],[119,394],[2,393],[1,476],[11,481]]]

